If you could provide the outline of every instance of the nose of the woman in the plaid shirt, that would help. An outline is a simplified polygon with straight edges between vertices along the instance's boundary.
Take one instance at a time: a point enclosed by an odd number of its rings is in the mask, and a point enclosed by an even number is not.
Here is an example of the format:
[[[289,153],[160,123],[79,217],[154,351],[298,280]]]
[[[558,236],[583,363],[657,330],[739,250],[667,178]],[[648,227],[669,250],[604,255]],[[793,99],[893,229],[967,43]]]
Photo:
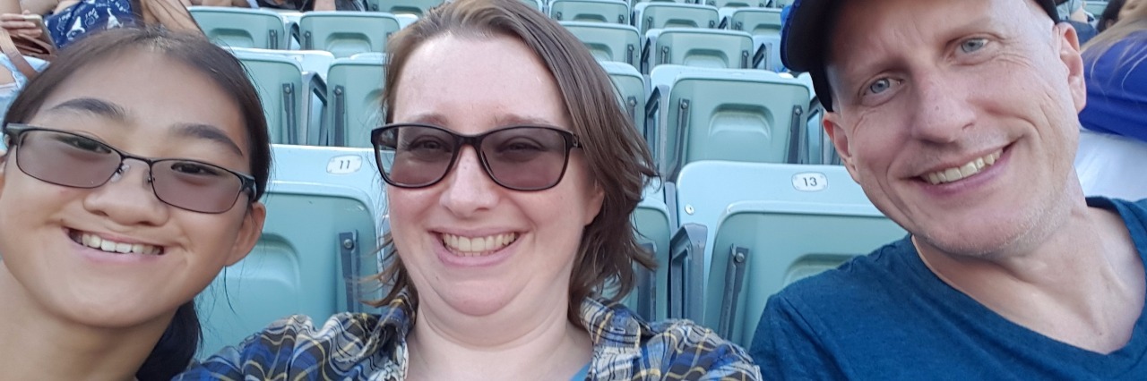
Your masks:
[[[492,208],[498,203],[499,185],[490,178],[478,159],[478,152],[463,146],[453,170],[443,180],[446,189],[439,203],[451,213],[467,217]]]

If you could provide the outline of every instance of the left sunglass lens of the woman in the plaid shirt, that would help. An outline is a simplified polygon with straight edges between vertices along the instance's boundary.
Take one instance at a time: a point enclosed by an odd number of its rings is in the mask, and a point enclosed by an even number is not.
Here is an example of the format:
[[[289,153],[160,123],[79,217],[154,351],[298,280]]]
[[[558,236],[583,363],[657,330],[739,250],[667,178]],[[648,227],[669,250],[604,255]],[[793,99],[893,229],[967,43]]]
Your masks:
[[[423,186],[437,182],[454,158],[455,138],[450,133],[423,126],[397,126],[383,130],[377,145],[382,174],[399,186]]]

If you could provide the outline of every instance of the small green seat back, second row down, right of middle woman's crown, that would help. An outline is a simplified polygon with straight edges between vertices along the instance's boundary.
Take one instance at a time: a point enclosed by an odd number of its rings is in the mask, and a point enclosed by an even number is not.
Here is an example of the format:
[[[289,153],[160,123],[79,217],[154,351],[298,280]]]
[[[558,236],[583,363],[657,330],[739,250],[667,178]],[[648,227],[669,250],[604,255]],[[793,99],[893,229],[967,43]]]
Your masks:
[[[590,48],[598,61],[624,62],[638,65],[641,55],[641,37],[633,25],[610,24],[599,22],[561,22]]]

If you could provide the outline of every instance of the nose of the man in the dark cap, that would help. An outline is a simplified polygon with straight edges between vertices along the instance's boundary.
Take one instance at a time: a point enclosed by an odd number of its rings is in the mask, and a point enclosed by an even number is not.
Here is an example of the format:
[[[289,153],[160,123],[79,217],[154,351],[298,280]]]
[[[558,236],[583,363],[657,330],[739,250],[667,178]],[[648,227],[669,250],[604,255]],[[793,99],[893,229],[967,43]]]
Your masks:
[[[953,143],[975,121],[965,82],[942,74],[920,77],[914,82],[916,106],[913,135],[931,143]]]

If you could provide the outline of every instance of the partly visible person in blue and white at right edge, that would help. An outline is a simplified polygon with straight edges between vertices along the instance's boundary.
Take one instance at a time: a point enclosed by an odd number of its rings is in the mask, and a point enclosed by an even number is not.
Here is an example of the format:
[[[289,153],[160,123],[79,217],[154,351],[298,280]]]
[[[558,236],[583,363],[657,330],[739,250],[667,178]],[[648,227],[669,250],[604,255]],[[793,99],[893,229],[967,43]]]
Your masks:
[[[1085,195],[1147,198],[1147,7],[1084,47],[1087,106],[1076,170]]]

